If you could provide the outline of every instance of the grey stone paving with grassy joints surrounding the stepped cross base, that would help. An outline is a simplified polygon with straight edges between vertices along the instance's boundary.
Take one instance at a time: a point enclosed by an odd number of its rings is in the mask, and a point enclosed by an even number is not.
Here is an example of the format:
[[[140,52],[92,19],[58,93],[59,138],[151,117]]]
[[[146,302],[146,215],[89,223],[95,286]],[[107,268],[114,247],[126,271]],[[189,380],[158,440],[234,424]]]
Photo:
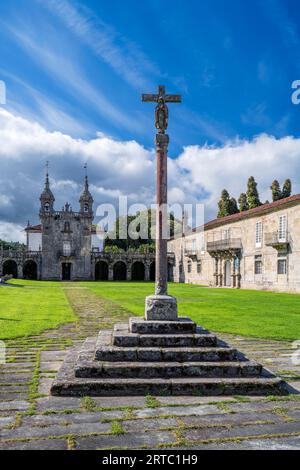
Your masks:
[[[49,396],[67,348],[129,316],[85,288],[70,285],[66,295],[76,324],[7,342],[8,361],[0,366],[0,449],[300,449],[300,395]],[[219,336],[300,390],[291,343]]]

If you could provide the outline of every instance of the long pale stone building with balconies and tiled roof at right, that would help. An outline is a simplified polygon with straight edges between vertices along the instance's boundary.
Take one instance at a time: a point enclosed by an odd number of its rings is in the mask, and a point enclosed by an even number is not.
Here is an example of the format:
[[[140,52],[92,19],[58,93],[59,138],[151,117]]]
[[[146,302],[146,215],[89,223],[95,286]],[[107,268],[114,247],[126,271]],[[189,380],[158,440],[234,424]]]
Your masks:
[[[168,251],[175,282],[300,292],[300,194],[212,220]]]

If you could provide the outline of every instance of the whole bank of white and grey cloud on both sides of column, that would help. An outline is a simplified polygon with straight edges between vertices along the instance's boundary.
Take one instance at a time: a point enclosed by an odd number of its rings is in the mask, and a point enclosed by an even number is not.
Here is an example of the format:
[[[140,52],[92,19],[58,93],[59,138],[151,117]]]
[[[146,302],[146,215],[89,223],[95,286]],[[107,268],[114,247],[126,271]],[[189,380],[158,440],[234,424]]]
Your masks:
[[[127,195],[130,204],[150,205],[155,200],[155,152],[136,141],[116,141],[103,134],[91,140],[74,139],[0,109],[0,142],[0,228],[8,239],[19,239],[18,227],[28,219],[38,223],[46,160],[57,209],[67,200],[77,209],[85,162],[95,206],[117,202],[121,195]],[[238,198],[253,175],[264,201],[270,199],[274,178],[282,182],[290,177],[294,193],[300,192],[294,176],[299,171],[300,139],[294,137],[260,135],[253,141],[236,140],[218,147],[188,146],[169,159],[169,200],[204,202],[206,218],[213,218],[224,187]]]

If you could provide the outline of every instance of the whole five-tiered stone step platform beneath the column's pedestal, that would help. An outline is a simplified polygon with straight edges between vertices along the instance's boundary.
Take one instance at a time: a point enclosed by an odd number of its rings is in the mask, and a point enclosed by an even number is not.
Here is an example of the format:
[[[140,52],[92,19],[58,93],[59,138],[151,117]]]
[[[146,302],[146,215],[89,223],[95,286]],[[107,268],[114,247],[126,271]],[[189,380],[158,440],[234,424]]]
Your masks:
[[[278,395],[263,371],[189,318],[145,320],[103,330],[71,349],[51,388],[58,396]]]

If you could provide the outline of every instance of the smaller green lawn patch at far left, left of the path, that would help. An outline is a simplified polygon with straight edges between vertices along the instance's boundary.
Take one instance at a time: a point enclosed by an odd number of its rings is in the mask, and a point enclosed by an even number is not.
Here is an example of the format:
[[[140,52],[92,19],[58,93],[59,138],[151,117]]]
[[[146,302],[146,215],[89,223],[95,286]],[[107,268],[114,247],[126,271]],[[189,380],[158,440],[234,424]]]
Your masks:
[[[34,335],[76,320],[61,283],[12,283],[18,287],[0,286],[0,339]]]

